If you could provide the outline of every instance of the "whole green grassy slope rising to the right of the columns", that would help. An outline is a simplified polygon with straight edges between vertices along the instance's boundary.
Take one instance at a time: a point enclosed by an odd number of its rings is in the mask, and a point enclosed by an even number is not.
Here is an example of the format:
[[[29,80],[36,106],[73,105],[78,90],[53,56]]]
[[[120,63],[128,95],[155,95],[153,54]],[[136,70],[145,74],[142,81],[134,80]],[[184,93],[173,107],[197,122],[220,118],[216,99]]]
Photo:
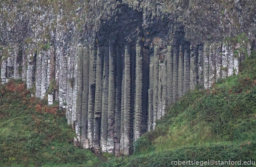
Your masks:
[[[255,54],[254,54],[255,55]],[[135,143],[134,155],[101,166],[171,166],[174,160],[256,159],[256,58],[236,76],[197,87],[171,105],[156,129]]]

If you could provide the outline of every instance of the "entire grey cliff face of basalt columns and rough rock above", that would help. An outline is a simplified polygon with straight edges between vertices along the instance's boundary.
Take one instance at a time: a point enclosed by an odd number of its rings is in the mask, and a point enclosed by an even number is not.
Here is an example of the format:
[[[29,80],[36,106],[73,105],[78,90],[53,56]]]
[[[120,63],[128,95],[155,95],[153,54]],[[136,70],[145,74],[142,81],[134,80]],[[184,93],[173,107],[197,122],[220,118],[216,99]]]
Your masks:
[[[168,105],[256,52],[254,0],[3,1],[1,83],[66,109],[74,144],[129,155]]]

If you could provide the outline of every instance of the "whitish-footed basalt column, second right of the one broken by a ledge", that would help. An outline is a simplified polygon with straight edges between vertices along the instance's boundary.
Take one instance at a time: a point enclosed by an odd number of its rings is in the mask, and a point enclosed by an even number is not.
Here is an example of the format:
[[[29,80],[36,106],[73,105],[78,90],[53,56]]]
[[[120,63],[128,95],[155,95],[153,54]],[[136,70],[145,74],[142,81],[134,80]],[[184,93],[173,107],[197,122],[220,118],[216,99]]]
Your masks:
[[[115,119],[115,47],[109,47],[109,98],[108,98],[108,140],[107,151],[114,154],[114,119]]]

